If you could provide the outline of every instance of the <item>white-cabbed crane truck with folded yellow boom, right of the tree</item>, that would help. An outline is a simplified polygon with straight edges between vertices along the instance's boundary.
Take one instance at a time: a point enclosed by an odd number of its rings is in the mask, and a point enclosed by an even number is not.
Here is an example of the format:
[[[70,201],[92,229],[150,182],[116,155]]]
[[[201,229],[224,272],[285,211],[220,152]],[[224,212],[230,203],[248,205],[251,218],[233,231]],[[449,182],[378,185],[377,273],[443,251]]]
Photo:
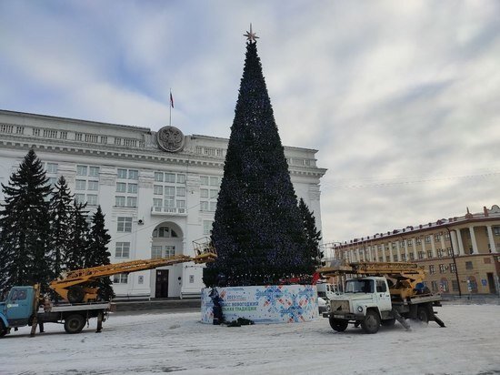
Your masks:
[[[425,287],[425,271],[416,263],[356,262],[318,271],[324,278],[355,276],[346,279],[344,294],[331,299],[330,310],[323,314],[336,331],[345,331],[351,323],[376,333],[381,325],[393,326],[395,320],[410,329],[405,319],[435,321],[445,327],[434,311],[441,306],[441,296]]]

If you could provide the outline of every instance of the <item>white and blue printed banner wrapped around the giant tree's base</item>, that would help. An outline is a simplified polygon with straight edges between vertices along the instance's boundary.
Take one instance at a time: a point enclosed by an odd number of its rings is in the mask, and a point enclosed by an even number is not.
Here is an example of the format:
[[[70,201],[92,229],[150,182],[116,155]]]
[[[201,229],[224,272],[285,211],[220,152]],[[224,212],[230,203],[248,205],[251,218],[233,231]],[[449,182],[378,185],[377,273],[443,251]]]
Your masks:
[[[313,285],[268,285],[215,288],[225,321],[238,318],[259,323],[300,323],[317,319],[317,290]],[[202,289],[202,322],[214,321],[214,291]]]

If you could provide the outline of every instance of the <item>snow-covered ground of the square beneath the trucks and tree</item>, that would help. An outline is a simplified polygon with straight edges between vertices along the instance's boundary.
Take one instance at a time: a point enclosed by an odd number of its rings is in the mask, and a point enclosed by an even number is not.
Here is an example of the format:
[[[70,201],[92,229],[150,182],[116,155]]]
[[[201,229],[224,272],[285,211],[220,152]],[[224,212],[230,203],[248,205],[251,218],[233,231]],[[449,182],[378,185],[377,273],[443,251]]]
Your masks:
[[[439,308],[446,328],[398,323],[375,335],[327,319],[240,328],[199,322],[200,313],[113,315],[102,333],[46,324],[29,338],[0,339],[0,374],[498,374],[500,306]]]

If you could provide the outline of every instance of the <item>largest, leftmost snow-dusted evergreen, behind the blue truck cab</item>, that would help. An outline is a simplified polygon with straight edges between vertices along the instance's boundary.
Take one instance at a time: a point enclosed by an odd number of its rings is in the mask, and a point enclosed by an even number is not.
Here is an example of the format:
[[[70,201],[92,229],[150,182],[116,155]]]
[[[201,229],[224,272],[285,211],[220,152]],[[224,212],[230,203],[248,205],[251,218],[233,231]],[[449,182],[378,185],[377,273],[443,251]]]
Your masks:
[[[0,208],[0,290],[50,280],[48,242],[51,188],[45,170],[30,149],[8,186]]]

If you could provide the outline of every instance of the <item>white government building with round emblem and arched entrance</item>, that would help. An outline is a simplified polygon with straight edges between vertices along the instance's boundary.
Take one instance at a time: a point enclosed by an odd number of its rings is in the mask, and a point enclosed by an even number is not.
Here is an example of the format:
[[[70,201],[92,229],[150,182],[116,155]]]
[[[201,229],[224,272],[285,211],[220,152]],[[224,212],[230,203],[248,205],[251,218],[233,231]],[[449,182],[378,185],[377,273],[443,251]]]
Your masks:
[[[194,256],[193,241],[208,237],[223,176],[227,139],[185,136],[176,127],[106,124],[0,110],[0,182],[30,148],[55,183],[65,176],[75,199],[101,205],[111,235],[112,263]],[[285,147],[298,198],[321,228],[317,150]],[[3,194],[0,193],[0,199]],[[117,298],[185,298],[200,294],[203,266],[177,264],[116,275]]]

